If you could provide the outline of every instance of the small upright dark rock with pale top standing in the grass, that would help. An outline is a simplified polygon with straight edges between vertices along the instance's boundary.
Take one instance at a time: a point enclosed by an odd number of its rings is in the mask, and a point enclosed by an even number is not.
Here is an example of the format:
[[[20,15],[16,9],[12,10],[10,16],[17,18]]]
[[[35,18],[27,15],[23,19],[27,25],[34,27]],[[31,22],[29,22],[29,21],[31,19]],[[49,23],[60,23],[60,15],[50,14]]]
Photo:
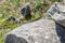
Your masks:
[[[29,3],[26,3],[26,4],[21,9],[21,14],[22,14],[25,18],[30,17],[30,5],[29,5]]]

